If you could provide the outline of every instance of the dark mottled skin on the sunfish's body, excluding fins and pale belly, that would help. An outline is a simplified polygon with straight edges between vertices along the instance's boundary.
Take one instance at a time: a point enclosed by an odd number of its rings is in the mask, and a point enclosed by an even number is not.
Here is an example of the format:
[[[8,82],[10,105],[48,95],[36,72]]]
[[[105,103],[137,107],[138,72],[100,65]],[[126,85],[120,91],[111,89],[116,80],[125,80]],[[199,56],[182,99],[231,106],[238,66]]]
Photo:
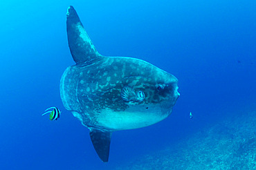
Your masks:
[[[129,129],[122,127],[121,121],[119,129],[98,125],[97,116],[104,108],[111,109],[113,114],[122,113],[129,107],[141,107],[144,108],[143,112],[150,113],[156,112],[155,108],[151,108],[155,105],[161,108],[158,113],[154,113],[156,116],[170,115],[172,106],[179,96],[176,91],[176,77],[140,59],[101,56],[99,58],[93,64],[77,64],[67,68],[62,77],[65,95],[62,98],[68,100],[64,104],[68,110],[76,111],[81,115],[82,120],[81,118],[80,120],[85,126],[110,131]],[[131,86],[135,91],[143,91],[145,100],[125,102],[120,96],[124,86]],[[164,88],[158,91],[158,86]]]

